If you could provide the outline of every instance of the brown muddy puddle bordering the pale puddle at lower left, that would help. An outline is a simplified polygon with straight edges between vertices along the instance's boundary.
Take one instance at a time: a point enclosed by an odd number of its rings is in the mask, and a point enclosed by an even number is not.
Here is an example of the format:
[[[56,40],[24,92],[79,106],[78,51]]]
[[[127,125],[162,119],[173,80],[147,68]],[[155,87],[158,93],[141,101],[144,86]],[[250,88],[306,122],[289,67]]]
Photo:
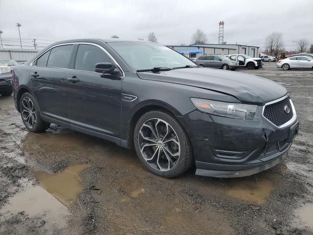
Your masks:
[[[69,207],[83,189],[79,173],[86,168],[89,168],[88,164],[77,164],[69,166],[65,171],[56,175],[37,172],[36,176],[42,188]]]

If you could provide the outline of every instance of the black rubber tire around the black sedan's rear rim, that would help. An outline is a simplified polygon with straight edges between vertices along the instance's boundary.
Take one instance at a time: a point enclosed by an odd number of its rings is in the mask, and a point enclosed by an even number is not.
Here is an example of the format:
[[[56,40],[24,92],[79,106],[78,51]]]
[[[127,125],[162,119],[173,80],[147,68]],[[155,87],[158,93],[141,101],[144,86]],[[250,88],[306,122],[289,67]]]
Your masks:
[[[35,124],[31,127],[28,122],[25,120],[25,118],[23,117],[23,115],[27,114],[27,111],[23,112],[24,108],[23,108],[23,100],[24,99],[30,99],[32,104],[33,104],[33,110],[32,113],[35,114]],[[25,100],[26,100],[25,99]],[[21,112],[21,117],[22,117],[22,121],[26,127],[26,129],[30,132],[43,132],[46,129],[48,129],[50,127],[50,123],[45,122],[42,118],[41,118],[41,114],[40,114],[40,110],[39,110],[39,105],[37,100],[30,94],[30,93],[24,93],[21,96],[20,99],[20,112]]]

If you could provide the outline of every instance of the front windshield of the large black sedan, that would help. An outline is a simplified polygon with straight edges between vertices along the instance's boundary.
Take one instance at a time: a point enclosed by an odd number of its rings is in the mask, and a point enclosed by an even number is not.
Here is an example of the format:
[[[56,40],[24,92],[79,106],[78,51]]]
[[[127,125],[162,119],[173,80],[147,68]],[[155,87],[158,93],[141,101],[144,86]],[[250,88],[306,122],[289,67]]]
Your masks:
[[[185,56],[160,44],[145,42],[114,42],[108,44],[134,70],[197,66]]]

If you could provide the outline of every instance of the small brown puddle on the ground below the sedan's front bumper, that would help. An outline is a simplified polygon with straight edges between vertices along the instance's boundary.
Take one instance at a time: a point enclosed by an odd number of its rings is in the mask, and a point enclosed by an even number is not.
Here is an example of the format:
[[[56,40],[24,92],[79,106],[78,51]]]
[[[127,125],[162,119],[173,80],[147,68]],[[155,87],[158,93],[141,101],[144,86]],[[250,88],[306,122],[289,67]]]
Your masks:
[[[226,195],[244,201],[264,204],[273,188],[274,183],[270,180],[254,182],[248,179],[237,179],[230,182],[230,188],[226,189]]]

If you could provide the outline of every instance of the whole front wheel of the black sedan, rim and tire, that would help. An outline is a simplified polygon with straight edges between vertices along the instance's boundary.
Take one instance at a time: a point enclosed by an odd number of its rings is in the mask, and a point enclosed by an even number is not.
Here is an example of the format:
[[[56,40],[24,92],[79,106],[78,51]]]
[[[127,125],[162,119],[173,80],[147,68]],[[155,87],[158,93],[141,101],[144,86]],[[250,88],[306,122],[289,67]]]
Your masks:
[[[140,162],[152,173],[173,178],[193,162],[187,133],[168,113],[151,111],[139,118],[134,129],[134,146]]]

